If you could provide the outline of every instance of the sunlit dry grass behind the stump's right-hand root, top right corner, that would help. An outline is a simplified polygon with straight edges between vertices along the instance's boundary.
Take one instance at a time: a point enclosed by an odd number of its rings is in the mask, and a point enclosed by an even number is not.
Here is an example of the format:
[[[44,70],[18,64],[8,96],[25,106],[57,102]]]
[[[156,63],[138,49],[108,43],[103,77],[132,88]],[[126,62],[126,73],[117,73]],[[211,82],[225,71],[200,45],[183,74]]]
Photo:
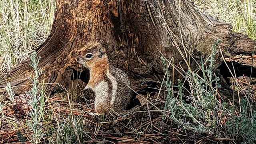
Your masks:
[[[256,38],[256,0],[191,0],[201,12],[233,26],[234,32]]]

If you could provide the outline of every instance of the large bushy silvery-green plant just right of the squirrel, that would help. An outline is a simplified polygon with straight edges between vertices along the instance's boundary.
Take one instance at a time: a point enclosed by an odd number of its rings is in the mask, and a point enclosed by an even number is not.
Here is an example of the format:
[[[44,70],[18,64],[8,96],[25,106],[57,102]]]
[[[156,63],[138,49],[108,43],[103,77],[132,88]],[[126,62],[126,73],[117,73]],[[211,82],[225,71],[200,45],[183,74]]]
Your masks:
[[[220,88],[219,78],[214,74],[214,61],[218,53],[216,50],[220,39],[212,46],[212,53],[206,62],[202,60],[201,70],[203,77],[197,71],[184,72],[184,79],[189,84],[187,90],[181,80],[177,86],[172,86],[171,73],[168,70],[166,60],[161,58],[166,71],[164,86],[167,89],[166,103],[164,110],[169,111],[169,116],[184,128],[195,132],[213,134],[220,126],[222,114],[226,113],[226,103],[220,104],[216,100],[217,89]],[[212,85],[212,84],[215,85]],[[177,87],[178,91],[173,88]],[[189,94],[184,94],[184,91]],[[185,101],[186,100],[186,101]]]

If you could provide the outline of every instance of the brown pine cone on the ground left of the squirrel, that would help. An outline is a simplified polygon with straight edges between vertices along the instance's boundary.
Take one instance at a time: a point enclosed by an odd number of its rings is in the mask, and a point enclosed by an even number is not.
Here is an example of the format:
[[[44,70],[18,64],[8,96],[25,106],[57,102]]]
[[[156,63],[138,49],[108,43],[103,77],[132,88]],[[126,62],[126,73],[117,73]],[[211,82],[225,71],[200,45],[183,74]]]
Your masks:
[[[39,94],[36,94],[39,98]],[[12,107],[16,113],[18,118],[24,118],[32,111],[32,107],[28,102],[31,100],[31,96],[29,94],[20,94],[15,96],[14,101],[12,102]]]

